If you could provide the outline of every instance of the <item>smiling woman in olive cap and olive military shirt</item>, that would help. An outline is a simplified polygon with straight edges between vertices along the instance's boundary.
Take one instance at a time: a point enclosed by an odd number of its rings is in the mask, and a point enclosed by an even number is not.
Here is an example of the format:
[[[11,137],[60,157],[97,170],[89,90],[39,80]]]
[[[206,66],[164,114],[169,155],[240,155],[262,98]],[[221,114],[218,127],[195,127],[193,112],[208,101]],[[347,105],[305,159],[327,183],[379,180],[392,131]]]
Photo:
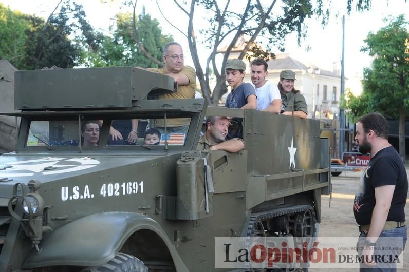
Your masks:
[[[291,70],[283,70],[280,73],[278,90],[281,93],[282,113],[307,118],[307,103],[299,90],[294,89],[295,73]]]

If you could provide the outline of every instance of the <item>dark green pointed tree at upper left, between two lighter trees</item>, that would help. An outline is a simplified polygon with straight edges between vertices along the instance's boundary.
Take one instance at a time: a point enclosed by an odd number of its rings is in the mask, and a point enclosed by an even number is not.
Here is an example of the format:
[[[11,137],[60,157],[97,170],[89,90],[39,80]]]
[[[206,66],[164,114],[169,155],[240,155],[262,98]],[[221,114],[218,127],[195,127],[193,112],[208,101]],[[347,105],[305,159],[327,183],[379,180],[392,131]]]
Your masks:
[[[62,3],[60,1],[59,5]],[[57,11],[58,6],[54,12]],[[72,68],[82,62],[82,46],[96,48],[101,36],[86,21],[81,5],[66,0],[58,13],[51,13],[47,21],[31,17],[27,32],[25,65],[41,69],[56,65]],[[77,40],[71,37],[76,36]]]

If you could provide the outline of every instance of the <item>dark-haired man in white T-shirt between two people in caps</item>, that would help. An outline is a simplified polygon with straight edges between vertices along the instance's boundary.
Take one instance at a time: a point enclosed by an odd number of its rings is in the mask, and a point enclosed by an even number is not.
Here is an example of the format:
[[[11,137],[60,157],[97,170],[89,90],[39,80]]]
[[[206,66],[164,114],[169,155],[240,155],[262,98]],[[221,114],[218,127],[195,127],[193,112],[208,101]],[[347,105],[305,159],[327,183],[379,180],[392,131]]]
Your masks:
[[[266,80],[268,75],[267,63],[263,59],[251,62],[251,82],[257,96],[257,110],[280,113],[281,95],[277,85]]]

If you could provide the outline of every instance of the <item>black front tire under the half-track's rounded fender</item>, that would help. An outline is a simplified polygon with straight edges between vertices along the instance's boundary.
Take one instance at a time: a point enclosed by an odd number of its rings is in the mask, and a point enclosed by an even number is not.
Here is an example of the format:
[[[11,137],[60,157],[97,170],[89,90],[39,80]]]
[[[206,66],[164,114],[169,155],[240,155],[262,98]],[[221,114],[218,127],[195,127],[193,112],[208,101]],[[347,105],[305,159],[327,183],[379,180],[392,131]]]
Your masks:
[[[125,253],[118,253],[107,263],[87,267],[81,272],[147,272],[147,267],[138,258]]]

